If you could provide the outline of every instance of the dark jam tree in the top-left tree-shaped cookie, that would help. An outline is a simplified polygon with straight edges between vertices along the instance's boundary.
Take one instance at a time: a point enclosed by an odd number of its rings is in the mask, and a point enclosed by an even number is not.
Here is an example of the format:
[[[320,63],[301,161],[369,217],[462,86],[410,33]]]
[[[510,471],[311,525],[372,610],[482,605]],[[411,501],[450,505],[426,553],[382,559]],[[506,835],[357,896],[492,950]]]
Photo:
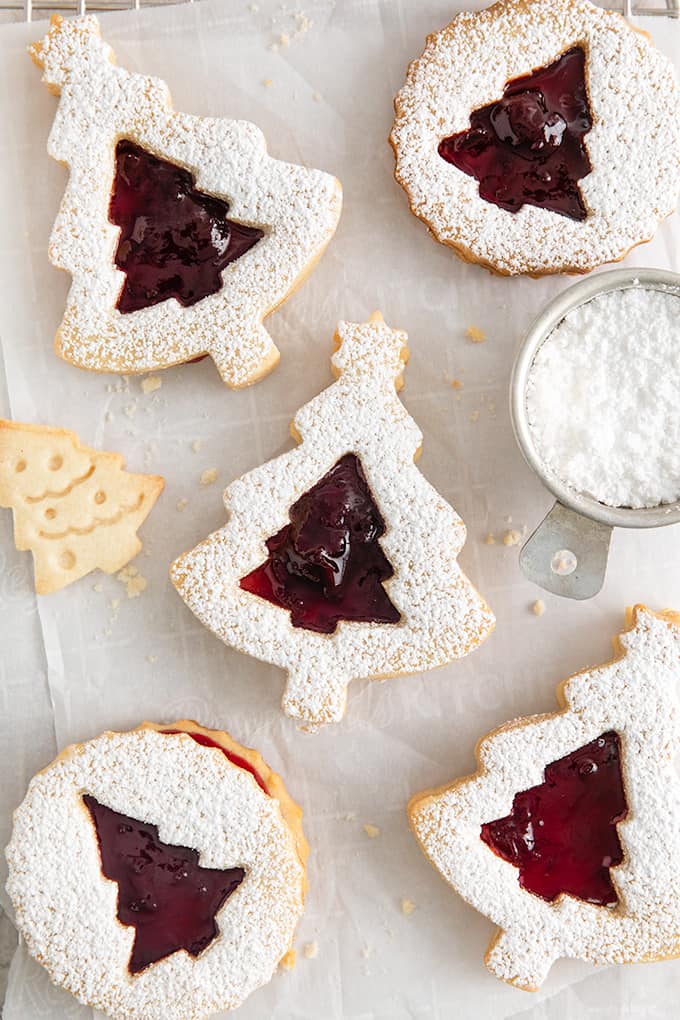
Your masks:
[[[219,291],[225,266],[264,237],[228,211],[228,202],[196,191],[189,170],[118,142],[109,205],[109,220],[120,227],[114,260],[125,273],[118,310],[168,298],[194,305]]]

